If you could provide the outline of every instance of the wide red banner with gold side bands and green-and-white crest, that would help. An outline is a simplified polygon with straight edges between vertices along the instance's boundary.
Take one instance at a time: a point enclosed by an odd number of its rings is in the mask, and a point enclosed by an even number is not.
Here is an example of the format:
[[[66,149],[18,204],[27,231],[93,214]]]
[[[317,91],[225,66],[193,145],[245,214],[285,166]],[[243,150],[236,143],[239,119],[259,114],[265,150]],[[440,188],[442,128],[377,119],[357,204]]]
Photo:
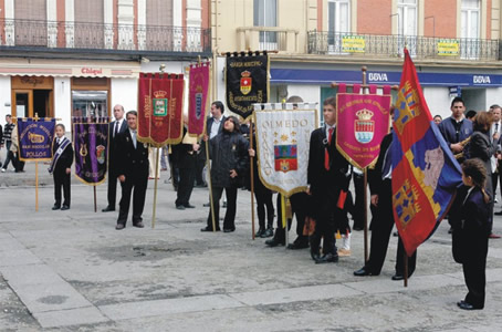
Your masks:
[[[182,138],[184,75],[140,73],[138,141],[154,147]]]

